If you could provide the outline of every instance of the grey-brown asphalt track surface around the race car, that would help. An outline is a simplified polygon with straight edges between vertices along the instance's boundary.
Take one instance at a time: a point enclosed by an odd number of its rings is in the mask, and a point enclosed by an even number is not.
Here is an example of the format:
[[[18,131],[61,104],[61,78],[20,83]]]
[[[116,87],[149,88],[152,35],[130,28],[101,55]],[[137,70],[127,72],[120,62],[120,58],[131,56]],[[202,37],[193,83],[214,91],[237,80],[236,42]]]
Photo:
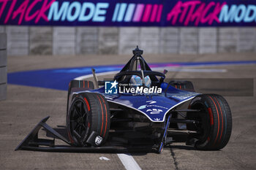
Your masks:
[[[8,72],[78,66],[124,64],[129,55],[24,56],[8,58]],[[148,63],[195,61],[255,61],[253,53],[218,55],[144,55]],[[183,69],[186,69],[184,66]],[[256,65],[189,67],[189,72],[168,72],[169,78],[253,78]],[[194,72],[193,69],[225,70]],[[99,77],[102,79],[104,77]],[[195,87],[197,89],[197,87]],[[198,151],[184,143],[165,147],[162,154],[132,153],[140,169],[255,169],[256,98],[226,96],[233,114],[230,142],[220,151]],[[42,117],[50,115],[53,128],[65,125],[67,91],[8,85],[7,100],[0,101],[0,169],[127,169],[116,153],[14,151]],[[42,134],[43,135],[43,134]],[[102,158],[104,157],[104,158]],[[101,159],[100,159],[101,158]],[[108,158],[109,160],[105,160]]]

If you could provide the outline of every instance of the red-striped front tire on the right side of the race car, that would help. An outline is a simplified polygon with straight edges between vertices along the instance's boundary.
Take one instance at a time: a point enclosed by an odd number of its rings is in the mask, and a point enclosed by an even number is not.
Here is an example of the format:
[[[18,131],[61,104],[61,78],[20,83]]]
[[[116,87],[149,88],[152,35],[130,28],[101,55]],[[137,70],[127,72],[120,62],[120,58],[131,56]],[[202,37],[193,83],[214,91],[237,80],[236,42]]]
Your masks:
[[[198,127],[187,125],[189,130],[200,130],[200,134],[191,136],[197,139],[198,150],[220,150],[226,146],[232,131],[232,115],[225,98],[215,94],[196,96],[189,108],[200,112],[187,114],[188,119],[201,122]],[[191,138],[190,138],[191,139]]]

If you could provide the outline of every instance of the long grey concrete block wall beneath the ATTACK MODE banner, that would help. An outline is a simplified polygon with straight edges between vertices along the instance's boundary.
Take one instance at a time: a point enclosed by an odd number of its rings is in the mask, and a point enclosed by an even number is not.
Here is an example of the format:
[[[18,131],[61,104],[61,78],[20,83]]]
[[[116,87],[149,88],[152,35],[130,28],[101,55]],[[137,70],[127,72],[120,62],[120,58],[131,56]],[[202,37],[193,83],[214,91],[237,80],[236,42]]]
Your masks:
[[[0,26],[8,55],[256,52],[255,27],[35,27]]]

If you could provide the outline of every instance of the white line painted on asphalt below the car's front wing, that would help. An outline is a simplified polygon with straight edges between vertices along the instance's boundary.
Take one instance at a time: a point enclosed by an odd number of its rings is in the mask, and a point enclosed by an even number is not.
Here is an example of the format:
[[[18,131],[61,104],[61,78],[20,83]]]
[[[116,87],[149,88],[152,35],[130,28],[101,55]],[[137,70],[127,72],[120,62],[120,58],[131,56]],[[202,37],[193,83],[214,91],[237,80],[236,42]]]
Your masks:
[[[132,155],[124,154],[124,153],[118,153],[118,158],[121,160],[121,163],[123,163],[125,169],[127,170],[141,170],[138,163],[135,161],[135,159],[132,157]]]

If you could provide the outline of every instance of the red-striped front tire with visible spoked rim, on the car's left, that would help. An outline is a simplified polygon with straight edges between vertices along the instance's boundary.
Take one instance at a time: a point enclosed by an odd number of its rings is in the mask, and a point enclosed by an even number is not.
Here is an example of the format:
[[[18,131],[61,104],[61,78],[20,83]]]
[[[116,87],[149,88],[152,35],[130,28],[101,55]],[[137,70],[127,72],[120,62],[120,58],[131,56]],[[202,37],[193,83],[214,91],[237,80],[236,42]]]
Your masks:
[[[67,114],[67,133],[72,145],[88,145],[86,140],[93,131],[102,137],[101,144],[104,144],[108,139],[109,128],[110,111],[104,96],[99,93],[80,93],[73,98]]]

